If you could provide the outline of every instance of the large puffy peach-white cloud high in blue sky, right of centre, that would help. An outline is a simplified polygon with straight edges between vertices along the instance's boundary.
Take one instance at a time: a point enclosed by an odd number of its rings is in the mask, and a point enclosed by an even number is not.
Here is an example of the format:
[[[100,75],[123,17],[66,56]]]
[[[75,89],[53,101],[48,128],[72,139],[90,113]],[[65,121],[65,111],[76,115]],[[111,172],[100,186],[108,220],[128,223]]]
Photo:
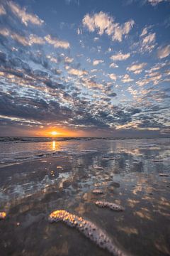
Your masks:
[[[135,21],[130,20],[120,25],[120,23],[114,22],[112,16],[100,11],[98,14],[86,14],[82,23],[90,32],[97,31],[100,36],[106,33],[108,36],[112,37],[113,41],[121,42],[123,36],[128,35]]]

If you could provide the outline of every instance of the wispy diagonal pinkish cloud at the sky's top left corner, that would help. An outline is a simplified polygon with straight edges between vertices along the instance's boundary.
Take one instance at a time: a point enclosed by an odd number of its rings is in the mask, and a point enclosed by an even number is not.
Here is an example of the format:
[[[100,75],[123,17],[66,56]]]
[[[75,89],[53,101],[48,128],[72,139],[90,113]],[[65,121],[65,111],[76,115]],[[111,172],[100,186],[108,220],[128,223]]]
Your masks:
[[[38,18],[38,16],[34,14],[28,14],[26,12],[26,8],[21,9],[21,7],[18,6],[18,4],[13,3],[13,1],[9,1],[8,6],[11,8],[13,14],[20,18],[23,24],[26,26],[28,26],[28,23],[40,26],[44,22],[40,18]]]

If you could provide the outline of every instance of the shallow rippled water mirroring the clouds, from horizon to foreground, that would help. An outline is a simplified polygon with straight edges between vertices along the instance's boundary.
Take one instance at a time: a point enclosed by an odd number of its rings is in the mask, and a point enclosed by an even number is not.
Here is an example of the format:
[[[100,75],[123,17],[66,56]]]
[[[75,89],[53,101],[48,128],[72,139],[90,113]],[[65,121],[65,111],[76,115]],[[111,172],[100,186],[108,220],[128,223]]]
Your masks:
[[[109,255],[78,230],[48,223],[56,209],[91,220],[131,255],[170,255],[169,142],[1,142],[1,255]],[[125,210],[98,208],[96,201]]]

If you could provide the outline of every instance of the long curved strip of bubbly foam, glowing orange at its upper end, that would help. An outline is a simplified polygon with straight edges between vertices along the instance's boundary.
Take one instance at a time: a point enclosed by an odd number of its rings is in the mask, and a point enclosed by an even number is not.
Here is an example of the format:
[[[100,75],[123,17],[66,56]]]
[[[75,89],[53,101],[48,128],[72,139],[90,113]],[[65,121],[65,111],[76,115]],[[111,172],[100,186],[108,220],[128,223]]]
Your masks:
[[[70,227],[77,228],[86,238],[95,242],[99,247],[108,250],[112,255],[125,256],[126,254],[113,243],[111,238],[89,220],[67,212],[66,210],[55,210],[49,216],[50,222],[63,221]]]

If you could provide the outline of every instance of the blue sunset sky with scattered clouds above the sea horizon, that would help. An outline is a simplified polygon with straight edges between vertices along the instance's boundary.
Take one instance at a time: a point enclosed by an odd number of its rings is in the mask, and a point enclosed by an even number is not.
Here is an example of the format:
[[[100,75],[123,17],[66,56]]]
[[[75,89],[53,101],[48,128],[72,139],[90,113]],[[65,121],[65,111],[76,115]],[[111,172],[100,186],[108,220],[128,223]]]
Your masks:
[[[0,136],[169,136],[169,0],[0,0]]]

